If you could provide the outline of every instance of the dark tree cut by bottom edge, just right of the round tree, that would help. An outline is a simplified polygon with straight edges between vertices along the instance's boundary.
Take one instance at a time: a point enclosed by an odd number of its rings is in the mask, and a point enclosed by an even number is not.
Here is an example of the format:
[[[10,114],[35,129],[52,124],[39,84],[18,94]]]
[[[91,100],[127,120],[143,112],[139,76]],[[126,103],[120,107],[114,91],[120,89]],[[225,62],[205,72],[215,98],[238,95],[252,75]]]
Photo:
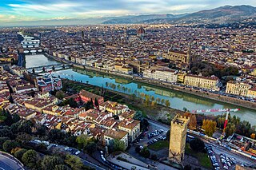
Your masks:
[[[45,156],[41,162],[42,169],[54,169],[56,165],[63,164],[64,161],[58,156]]]

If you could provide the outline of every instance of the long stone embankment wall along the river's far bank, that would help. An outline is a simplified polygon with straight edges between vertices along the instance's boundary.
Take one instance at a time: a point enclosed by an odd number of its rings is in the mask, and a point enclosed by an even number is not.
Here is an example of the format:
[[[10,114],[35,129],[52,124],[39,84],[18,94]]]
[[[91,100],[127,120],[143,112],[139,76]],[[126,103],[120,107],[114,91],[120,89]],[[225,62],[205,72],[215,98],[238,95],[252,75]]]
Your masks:
[[[46,54],[46,57],[50,57],[59,62],[70,63],[70,61],[65,61],[61,58],[54,57],[49,54]],[[192,94],[192,95],[195,95],[198,97],[205,97],[210,100],[224,102],[224,103],[227,103],[230,105],[237,105],[237,106],[241,106],[241,107],[244,107],[247,109],[254,109],[256,111],[256,102],[244,101],[244,100],[234,98],[234,97],[227,97],[227,96],[223,96],[223,95],[219,95],[219,94],[215,94],[215,93],[200,91],[198,89],[190,89],[190,88],[182,87],[179,85],[173,85],[173,84],[170,84],[170,83],[167,83],[164,81],[148,79],[145,77],[136,77],[136,76],[132,76],[132,75],[124,74],[124,73],[117,73],[117,72],[110,71],[110,70],[98,69],[98,68],[85,66],[85,65],[77,65],[74,63],[72,63],[72,65],[74,66],[74,68],[87,69],[87,70],[95,71],[95,72],[99,72],[99,73],[106,73],[106,74],[110,74],[110,75],[114,75],[114,76],[118,76],[118,77],[125,77],[125,78],[129,78],[133,81],[138,81],[138,82],[146,83],[149,85],[156,85],[156,86],[164,88],[164,89],[173,89],[173,90],[177,90],[177,91],[180,91],[183,93],[189,93],[189,94]]]

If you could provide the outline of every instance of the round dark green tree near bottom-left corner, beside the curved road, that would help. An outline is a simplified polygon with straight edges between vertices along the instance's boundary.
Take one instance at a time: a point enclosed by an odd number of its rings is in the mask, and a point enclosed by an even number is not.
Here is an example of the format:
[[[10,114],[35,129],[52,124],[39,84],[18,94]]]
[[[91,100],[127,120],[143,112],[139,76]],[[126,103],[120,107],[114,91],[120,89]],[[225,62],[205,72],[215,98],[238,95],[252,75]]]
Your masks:
[[[25,152],[22,156],[22,162],[29,168],[38,168],[39,160],[41,160],[41,157],[38,155],[38,152],[32,149]]]

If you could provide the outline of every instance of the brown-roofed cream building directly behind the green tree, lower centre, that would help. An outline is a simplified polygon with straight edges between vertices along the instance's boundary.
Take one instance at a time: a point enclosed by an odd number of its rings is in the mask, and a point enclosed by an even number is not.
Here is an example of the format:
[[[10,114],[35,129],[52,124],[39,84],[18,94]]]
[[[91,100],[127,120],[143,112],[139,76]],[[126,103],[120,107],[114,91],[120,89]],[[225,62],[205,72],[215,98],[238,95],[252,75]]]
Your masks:
[[[106,145],[108,146],[112,144],[114,139],[123,141],[126,145],[126,148],[128,147],[128,132],[123,130],[108,129],[104,133],[104,140]]]

